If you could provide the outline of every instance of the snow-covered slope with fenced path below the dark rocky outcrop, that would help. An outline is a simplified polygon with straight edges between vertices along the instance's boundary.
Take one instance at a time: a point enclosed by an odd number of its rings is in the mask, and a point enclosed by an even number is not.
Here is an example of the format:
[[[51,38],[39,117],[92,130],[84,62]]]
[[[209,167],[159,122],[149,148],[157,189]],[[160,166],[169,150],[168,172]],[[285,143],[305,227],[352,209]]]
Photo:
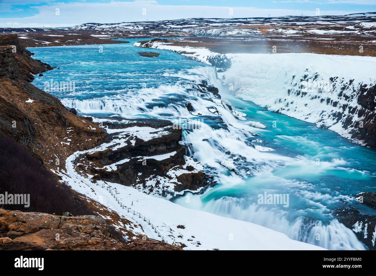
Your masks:
[[[99,150],[93,149],[92,151]],[[311,244],[291,240],[285,234],[249,222],[220,217],[211,213],[182,207],[162,198],[147,195],[132,187],[105,181],[91,182],[75,170],[74,160],[84,152],[75,152],[67,158],[67,175],[61,174],[62,181],[74,190],[98,201],[120,216],[139,224],[134,228],[137,234],[162,240],[148,221],[133,215],[127,208],[150,218],[150,223],[168,243],[184,244],[189,250],[321,250]],[[109,192],[116,191],[116,199]],[[189,197],[186,198],[189,201]],[[178,227],[179,226],[179,227]]]

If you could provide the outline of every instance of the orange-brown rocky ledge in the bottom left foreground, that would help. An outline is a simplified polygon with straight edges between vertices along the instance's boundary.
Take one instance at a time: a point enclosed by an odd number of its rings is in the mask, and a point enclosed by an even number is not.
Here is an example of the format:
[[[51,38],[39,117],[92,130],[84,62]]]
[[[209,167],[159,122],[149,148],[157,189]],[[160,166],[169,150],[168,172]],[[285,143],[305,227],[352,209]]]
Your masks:
[[[179,250],[148,238],[119,240],[99,216],[56,216],[0,209],[0,250]]]

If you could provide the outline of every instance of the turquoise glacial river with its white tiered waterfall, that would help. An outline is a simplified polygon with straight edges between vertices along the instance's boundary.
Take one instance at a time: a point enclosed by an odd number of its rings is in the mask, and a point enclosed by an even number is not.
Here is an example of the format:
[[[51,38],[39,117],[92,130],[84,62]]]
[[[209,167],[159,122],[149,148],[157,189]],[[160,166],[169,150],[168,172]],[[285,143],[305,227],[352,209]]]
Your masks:
[[[205,165],[218,184],[202,195],[188,193],[175,199],[177,204],[257,223],[327,249],[366,249],[351,229],[338,223],[333,211],[347,202],[361,213],[376,215],[374,209],[350,197],[375,191],[374,150],[234,98],[217,79],[212,66],[171,51],[132,47],[141,40],[30,48],[36,59],[61,68],[36,76],[33,84],[44,89],[45,81],[74,81],[74,89],[50,93],[82,115],[174,122],[179,118],[202,119],[199,130],[183,130],[183,140],[192,144],[193,157]],[[139,56],[138,52],[143,51],[158,52],[160,56]],[[194,84],[202,80],[218,87],[222,99],[228,100],[233,110],[246,113],[247,120],[238,120],[225,105],[215,104],[212,97],[200,97]],[[202,115],[188,112],[187,102]],[[266,128],[244,124],[249,120],[261,122]],[[259,135],[254,137],[252,133]],[[250,142],[274,151],[259,151]],[[230,171],[221,161],[233,162],[235,170]],[[288,195],[288,207],[258,204],[258,195],[264,192]]]

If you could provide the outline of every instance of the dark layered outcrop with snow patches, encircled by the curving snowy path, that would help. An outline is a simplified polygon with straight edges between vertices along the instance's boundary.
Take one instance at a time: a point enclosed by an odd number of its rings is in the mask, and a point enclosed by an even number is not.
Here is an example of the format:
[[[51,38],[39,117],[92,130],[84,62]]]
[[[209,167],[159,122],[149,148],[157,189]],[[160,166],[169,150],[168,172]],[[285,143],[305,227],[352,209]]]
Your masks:
[[[94,118],[94,120],[96,120]],[[171,198],[185,190],[200,191],[211,179],[185,155],[182,129],[159,119],[101,119],[108,137],[103,145],[80,154],[76,171]]]

